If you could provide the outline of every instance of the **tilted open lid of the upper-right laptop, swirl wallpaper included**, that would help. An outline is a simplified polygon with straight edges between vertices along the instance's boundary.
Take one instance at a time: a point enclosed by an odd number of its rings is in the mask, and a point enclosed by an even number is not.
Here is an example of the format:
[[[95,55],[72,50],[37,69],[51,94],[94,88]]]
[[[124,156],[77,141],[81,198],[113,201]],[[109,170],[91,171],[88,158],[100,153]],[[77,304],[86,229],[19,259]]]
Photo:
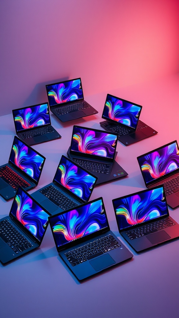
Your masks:
[[[102,118],[135,131],[141,109],[142,106],[138,104],[107,94]]]

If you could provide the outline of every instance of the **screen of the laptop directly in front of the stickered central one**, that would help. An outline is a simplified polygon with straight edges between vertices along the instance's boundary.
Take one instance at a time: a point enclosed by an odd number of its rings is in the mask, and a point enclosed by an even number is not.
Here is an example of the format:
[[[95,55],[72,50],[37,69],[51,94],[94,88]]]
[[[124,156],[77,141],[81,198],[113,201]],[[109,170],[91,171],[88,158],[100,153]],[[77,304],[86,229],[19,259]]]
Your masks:
[[[60,164],[54,176],[54,181],[80,197],[83,201],[88,201],[93,191],[97,178],[91,176],[89,172],[76,166],[65,156],[61,157]]]

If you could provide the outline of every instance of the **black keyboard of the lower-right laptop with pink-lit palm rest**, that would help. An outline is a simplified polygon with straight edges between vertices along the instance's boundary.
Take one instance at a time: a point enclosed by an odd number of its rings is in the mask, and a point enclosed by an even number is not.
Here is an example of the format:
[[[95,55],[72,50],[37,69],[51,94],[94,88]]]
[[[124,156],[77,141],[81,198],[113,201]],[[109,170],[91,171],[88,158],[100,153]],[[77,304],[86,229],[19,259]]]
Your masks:
[[[175,223],[173,223],[173,221],[170,220],[170,218],[166,218],[164,220],[160,220],[151,224],[141,226],[140,228],[128,231],[126,232],[126,234],[128,238],[132,240],[132,239],[140,238],[141,236],[145,236],[145,235],[160,231],[172,225],[175,225]]]

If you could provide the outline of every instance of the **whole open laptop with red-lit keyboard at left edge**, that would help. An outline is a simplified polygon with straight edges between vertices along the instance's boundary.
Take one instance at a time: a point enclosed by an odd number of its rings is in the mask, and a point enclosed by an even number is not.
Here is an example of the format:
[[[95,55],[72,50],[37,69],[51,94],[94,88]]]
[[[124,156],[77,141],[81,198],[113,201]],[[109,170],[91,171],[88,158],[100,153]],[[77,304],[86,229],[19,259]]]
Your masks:
[[[9,162],[0,166],[0,195],[9,200],[18,185],[26,191],[35,188],[42,173],[45,157],[14,136]]]

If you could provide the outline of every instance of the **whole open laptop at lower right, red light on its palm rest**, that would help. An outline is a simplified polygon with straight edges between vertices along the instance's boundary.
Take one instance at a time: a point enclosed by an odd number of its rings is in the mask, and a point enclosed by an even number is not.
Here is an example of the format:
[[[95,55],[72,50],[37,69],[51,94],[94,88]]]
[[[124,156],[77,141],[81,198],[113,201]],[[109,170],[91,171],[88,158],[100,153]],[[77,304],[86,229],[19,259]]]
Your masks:
[[[112,200],[119,233],[140,252],[179,237],[163,185]]]

